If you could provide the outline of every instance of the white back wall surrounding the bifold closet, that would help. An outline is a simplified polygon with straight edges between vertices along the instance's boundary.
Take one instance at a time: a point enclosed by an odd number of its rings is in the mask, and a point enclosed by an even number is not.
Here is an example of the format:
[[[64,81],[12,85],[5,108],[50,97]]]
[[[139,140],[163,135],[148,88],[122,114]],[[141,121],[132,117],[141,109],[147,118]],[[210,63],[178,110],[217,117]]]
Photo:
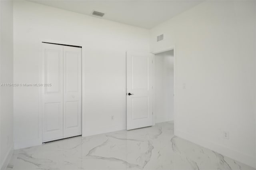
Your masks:
[[[14,2],[14,82],[39,81],[40,40],[80,43],[82,135],[126,128],[126,50],[149,51],[149,30],[26,1]],[[42,142],[37,87],[14,89],[15,148]],[[111,116],[114,115],[114,121]]]

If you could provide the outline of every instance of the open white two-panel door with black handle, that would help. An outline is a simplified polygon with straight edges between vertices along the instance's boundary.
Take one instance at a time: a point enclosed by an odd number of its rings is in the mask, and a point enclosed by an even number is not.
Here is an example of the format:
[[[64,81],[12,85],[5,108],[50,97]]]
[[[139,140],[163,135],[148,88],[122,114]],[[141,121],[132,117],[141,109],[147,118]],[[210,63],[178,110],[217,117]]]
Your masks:
[[[126,53],[126,129],[153,125],[153,54]]]

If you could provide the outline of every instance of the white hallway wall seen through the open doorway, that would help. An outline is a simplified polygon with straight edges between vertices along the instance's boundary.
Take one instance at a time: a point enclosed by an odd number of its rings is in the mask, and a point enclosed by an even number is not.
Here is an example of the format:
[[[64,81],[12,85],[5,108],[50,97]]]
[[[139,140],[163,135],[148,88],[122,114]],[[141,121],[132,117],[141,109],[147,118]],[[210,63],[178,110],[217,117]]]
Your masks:
[[[155,120],[174,120],[174,56],[173,50],[155,55]]]

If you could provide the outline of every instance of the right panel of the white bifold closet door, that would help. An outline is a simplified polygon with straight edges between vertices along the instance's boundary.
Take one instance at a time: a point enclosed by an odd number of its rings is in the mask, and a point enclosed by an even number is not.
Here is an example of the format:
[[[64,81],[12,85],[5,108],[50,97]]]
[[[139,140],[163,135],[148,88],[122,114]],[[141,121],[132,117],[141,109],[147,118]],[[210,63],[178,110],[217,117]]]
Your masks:
[[[82,134],[82,51],[64,49],[64,119],[63,138]]]

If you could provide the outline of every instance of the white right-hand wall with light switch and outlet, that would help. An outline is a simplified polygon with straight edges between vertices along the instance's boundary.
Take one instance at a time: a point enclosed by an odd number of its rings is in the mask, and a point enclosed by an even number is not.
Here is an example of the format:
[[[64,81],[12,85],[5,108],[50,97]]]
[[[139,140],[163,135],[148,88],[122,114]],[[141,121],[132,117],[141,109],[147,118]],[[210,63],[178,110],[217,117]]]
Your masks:
[[[175,45],[175,134],[255,166],[255,1],[206,1],[152,28]],[[156,36],[165,40],[156,43]],[[186,83],[186,89],[182,89]],[[229,132],[229,140],[223,138]]]

